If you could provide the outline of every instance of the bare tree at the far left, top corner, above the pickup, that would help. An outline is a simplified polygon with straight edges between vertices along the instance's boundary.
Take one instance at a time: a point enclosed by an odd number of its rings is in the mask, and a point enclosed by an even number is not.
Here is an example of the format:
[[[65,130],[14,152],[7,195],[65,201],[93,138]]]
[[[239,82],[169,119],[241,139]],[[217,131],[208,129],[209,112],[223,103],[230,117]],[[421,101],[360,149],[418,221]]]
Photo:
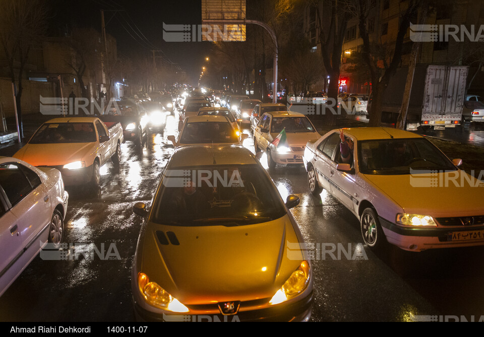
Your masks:
[[[40,0],[2,0],[0,1],[0,45],[8,60],[12,83],[17,79],[17,116],[20,137],[22,127],[22,78],[30,49],[45,32],[47,9]]]

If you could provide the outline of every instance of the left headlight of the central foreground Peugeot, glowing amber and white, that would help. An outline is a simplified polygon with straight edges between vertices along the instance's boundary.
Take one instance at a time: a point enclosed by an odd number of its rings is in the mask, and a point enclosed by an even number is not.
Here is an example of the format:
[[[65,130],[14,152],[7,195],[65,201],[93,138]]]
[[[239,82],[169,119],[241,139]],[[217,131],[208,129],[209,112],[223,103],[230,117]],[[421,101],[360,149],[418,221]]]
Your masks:
[[[189,309],[176,298],[171,296],[158,283],[150,282],[148,275],[138,274],[138,289],[148,304],[173,312],[188,312]]]

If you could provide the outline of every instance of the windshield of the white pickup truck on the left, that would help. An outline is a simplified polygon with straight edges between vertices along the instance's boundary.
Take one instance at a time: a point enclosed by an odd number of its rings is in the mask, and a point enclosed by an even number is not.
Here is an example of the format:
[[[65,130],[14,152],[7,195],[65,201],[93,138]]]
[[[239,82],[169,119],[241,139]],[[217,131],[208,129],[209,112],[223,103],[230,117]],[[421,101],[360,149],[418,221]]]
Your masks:
[[[33,135],[30,144],[90,143],[96,141],[92,123],[45,123]]]

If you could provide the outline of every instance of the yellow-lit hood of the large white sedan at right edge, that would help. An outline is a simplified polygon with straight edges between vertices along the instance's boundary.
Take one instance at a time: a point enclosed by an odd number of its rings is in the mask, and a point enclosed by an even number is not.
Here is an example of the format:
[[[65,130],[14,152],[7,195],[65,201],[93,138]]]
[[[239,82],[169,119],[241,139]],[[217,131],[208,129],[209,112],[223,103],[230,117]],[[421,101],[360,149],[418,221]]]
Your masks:
[[[412,175],[365,175],[406,213],[434,217],[484,214],[484,182],[464,171]]]

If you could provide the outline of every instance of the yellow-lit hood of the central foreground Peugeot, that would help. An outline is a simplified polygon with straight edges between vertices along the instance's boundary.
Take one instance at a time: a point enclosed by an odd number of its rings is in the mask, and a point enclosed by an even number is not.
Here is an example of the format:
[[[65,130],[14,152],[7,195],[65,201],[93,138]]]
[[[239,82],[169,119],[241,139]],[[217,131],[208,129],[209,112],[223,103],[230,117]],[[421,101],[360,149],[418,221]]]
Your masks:
[[[287,215],[235,227],[148,226],[139,271],[188,305],[271,298],[302,261],[300,248],[287,258],[286,242],[298,242]],[[157,231],[179,244],[161,244]]]

